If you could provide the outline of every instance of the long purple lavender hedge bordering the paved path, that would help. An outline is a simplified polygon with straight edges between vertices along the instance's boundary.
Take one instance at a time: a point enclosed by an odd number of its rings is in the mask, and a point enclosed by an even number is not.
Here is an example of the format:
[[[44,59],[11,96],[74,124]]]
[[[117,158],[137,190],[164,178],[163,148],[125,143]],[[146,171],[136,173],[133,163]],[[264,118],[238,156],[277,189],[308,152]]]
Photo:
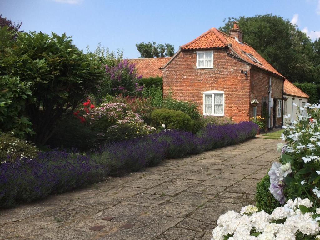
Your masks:
[[[254,137],[256,131],[257,125],[252,122],[208,125],[196,135],[172,130],[113,142],[90,155],[52,150],[39,153],[37,160],[4,163],[0,165],[0,207],[83,187],[110,174],[137,171],[165,158],[236,144]]]

